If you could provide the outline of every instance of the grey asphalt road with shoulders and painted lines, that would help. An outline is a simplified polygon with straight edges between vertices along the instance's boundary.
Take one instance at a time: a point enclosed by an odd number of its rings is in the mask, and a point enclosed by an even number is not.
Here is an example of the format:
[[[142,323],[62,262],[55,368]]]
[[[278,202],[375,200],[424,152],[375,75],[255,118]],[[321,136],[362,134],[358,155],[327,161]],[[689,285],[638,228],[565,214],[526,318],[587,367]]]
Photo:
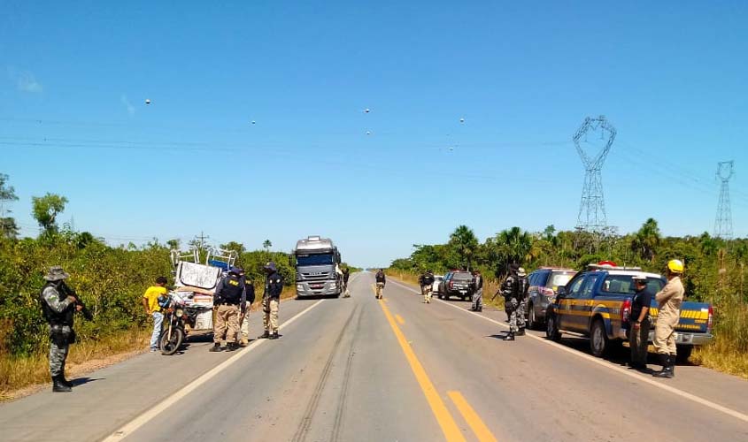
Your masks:
[[[742,379],[695,366],[656,379],[540,332],[505,342],[503,311],[423,304],[394,281],[377,301],[373,282],[282,303],[275,341],[192,342],[4,404],[0,440],[748,440]]]

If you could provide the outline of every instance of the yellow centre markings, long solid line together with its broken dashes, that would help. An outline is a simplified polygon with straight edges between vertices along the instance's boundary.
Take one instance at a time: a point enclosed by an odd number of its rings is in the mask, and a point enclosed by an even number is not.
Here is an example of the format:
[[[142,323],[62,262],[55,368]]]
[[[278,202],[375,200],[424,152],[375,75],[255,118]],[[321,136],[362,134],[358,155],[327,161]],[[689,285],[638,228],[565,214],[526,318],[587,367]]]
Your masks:
[[[372,286],[372,288],[375,289],[374,286]],[[415,375],[415,378],[420,385],[420,389],[426,396],[428,406],[431,407],[431,411],[436,417],[436,422],[439,423],[439,426],[442,429],[444,438],[446,438],[449,442],[465,442],[466,439],[462,435],[462,431],[459,430],[459,427],[452,417],[449,409],[447,409],[447,406],[444,404],[441,396],[439,396],[439,393],[436,391],[436,387],[428,377],[426,370],[423,368],[423,365],[421,365],[418,357],[415,355],[415,352],[413,352],[413,347],[408,344],[408,340],[405,339],[403,331],[401,331],[400,327],[397,326],[395,317],[392,316],[392,313],[389,312],[389,308],[387,307],[387,305],[385,305],[384,302],[380,302],[379,305],[380,307],[382,307],[384,316],[387,317],[389,326],[392,327],[392,331],[395,332],[397,342],[403,349],[405,359],[407,359],[408,363],[410,364],[411,370],[413,370],[413,375]],[[400,319],[401,324],[405,323],[405,321],[403,321],[402,317],[400,317],[399,315],[397,315],[397,318]],[[470,404],[467,403],[467,400],[465,400],[460,392],[451,391],[447,392],[447,395],[450,397],[452,402],[454,402],[455,407],[458,408],[459,413],[465,419],[467,425],[470,426],[470,429],[473,430],[478,440],[480,440],[481,442],[497,442],[497,438],[495,438],[493,434],[491,434],[489,428],[485,423],[483,423],[481,416],[479,416],[475,412],[475,410],[470,407]]]

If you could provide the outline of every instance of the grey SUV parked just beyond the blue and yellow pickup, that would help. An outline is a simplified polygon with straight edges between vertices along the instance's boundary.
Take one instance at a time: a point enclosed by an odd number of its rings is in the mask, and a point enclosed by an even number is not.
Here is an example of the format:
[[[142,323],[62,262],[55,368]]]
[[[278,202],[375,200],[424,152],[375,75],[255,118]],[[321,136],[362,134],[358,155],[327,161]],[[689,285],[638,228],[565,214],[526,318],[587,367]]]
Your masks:
[[[545,322],[545,312],[559,291],[566,286],[576,271],[559,267],[541,267],[528,275],[528,329],[535,329]]]

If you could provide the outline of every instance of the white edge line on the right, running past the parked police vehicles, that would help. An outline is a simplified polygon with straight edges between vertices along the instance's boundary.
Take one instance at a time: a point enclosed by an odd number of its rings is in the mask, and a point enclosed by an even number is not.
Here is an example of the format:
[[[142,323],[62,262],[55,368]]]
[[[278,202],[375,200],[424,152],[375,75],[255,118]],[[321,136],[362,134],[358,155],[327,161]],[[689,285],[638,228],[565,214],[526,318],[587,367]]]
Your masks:
[[[401,287],[403,287],[403,288],[405,288],[407,290],[410,290],[413,293],[420,293],[418,290],[415,290],[414,288],[411,288],[409,286],[405,286],[404,284],[401,284],[401,283],[399,283],[397,281],[392,281],[392,282],[395,283],[397,286],[401,286]],[[490,317],[482,316],[482,315],[478,314],[477,312],[463,309],[462,307],[456,306],[456,305],[451,304],[451,303],[449,303],[447,301],[443,301],[443,300],[439,300],[439,299],[437,299],[435,301],[442,302],[444,305],[448,305],[448,306],[450,306],[453,309],[458,309],[459,311],[465,312],[468,315],[478,316],[478,317],[480,317],[482,319],[485,319],[486,321],[489,321],[490,323],[500,325],[500,326],[502,326],[504,328],[509,328],[509,325],[502,324],[502,323],[500,323],[500,322],[498,322],[498,321],[496,321],[494,319],[491,319]],[[705,407],[712,408],[713,410],[720,411],[721,413],[724,413],[726,415],[730,415],[732,417],[735,417],[736,419],[739,419],[741,421],[744,421],[744,422],[748,423],[748,415],[744,415],[743,413],[740,413],[739,411],[736,411],[736,410],[734,410],[732,408],[727,408],[727,407],[721,406],[720,404],[714,403],[711,400],[706,400],[704,398],[696,396],[695,394],[691,394],[690,392],[684,392],[684,391],[679,390],[679,389],[677,389],[677,388],[675,388],[673,386],[659,383],[659,382],[655,381],[654,379],[650,379],[648,377],[644,377],[643,375],[638,374],[638,373],[633,373],[633,372],[631,372],[628,369],[622,369],[621,367],[617,367],[615,365],[610,364],[609,362],[606,362],[604,359],[599,359],[599,358],[596,358],[594,356],[590,356],[590,354],[583,354],[583,353],[579,352],[578,350],[574,350],[574,348],[569,348],[569,347],[562,346],[561,344],[559,344],[557,342],[553,342],[552,340],[545,339],[545,338],[542,338],[540,336],[536,336],[534,334],[526,334],[525,336],[528,337],[528,338],[537,339],[538,341],[543,342],[544,344],[548,344],[549,346],[556,347],[559,350],[563,350],[563,351],[565,351],[565,352],[567,352],[569,354],[574,354],[575,356],[581,357],[582,359],[585,359],[585,360],[587,360],[589,362],[594,362],[594,363],[596,363],[596,364],[598,364],[598,365],[600,365],[602,367],[605,367],[606,369],[617,371],[621,375],[626,375],[628,377],[633,377],[637,381],[641,381],[641,382],[644,382],[646,384],[656,386],[656,387],[658,387],[658,388],[660,388],[662,390],[665,390],[666,392],[672,392],[673,394],[681,396],[682,398],[685,398],[685,399],[688,399],[688,400],[693,400],[694,402],[696,402],[698,404],[701,404],[701,405],[703,405]]]

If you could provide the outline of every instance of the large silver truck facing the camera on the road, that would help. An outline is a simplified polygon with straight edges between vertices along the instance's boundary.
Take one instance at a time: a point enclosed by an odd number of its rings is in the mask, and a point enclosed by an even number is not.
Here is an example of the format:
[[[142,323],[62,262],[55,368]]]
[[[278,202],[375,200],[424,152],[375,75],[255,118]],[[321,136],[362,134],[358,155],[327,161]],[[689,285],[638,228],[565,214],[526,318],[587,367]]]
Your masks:
[[[343,280],[335,268],[340,265],[341,257],[332,240],[319,236],[298,240],[290,261],[296,268],[297,298],[340,296]]]

